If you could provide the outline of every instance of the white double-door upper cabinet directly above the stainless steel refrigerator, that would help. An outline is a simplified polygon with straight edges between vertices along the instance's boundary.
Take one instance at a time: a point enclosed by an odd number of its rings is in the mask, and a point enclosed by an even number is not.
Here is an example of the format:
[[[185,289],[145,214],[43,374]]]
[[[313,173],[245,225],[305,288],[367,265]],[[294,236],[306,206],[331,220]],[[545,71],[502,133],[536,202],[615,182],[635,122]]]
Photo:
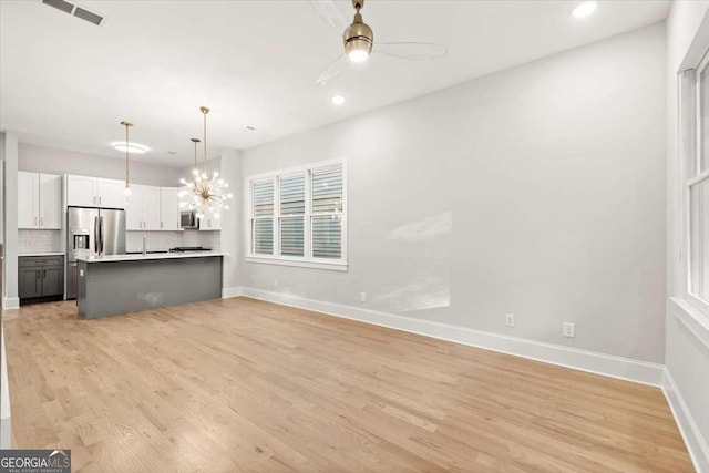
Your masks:
[[[66,175],[66,205],[123,208],[124,181]]]

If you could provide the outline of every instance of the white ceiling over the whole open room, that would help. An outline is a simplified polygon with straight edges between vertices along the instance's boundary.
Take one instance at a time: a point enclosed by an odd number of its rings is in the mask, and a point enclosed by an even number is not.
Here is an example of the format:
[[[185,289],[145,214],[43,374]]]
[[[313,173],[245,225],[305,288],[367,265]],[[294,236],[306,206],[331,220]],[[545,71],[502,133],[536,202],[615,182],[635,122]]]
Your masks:
[[[193,160],[208,105],[209,148],[247,148],[494,71],[653,24],[668,1],[384,1],[362,10],[376,41],[448,44],[446,58],[373,55],[322,88],[315,79],[341,40],[307,1],[81,1],[106,18],[86,23],[39,0],[0,1],[0,130],[21,142],[141,161]],[[338,1],[350,16],[351,2]],[[330,99],[342,94],[347,103]],[[256,127],[246,132],[244,127]],[[167,157],[168,151],[176,152]]]

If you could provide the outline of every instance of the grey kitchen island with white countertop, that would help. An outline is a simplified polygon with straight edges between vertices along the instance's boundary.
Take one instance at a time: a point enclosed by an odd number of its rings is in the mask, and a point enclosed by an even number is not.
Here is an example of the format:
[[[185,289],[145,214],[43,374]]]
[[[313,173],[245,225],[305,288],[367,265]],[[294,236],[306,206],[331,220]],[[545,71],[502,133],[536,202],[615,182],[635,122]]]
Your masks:
[[[78,257],[76,306],[84,319],[222,297],[223,253]]]

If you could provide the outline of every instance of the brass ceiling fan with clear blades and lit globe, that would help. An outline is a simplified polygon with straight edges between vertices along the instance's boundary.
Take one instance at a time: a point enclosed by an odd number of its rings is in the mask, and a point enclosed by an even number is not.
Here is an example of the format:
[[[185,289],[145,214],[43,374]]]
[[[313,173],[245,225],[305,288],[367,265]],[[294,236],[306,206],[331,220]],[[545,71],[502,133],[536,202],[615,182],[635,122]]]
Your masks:
[[[367,61],[372,52],[411,61],[441,59],[448,53],[446,47],[434,43],[374,43],[374,33],[362,21],[360,13],[364,7],[364,0],[352,0],[356,13],[351,23],[333,0],[310,0],[310,4],[330,27],[342,34],[345,45],[345,53],[340,54],[320,73],[320,76],[315,81],[316,85],[323,85],[340,75],[347,70],[350,62]]]

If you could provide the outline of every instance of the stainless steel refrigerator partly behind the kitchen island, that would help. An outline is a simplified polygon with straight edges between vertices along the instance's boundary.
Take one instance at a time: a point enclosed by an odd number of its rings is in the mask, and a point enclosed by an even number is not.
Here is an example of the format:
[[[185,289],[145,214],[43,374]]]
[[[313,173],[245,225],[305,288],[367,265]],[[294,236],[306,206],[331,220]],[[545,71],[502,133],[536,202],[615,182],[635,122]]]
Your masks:
[[[125,212],[66,208],[66,299],[76,298],[76,258],[125,254]]]

